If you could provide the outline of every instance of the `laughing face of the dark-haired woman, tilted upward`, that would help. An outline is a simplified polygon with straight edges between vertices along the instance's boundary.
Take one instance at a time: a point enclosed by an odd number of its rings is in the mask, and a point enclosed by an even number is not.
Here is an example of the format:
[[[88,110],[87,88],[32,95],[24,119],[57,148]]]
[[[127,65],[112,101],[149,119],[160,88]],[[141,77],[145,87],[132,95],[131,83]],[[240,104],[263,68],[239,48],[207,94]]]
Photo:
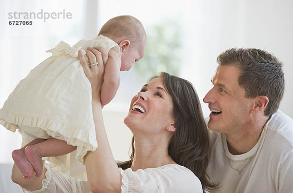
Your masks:
[[[132,132],[140,130],[145,134],[157,135],[174,124],[172,109],[172,98],[162,78],[154,78],[132,98],[124,123]]]

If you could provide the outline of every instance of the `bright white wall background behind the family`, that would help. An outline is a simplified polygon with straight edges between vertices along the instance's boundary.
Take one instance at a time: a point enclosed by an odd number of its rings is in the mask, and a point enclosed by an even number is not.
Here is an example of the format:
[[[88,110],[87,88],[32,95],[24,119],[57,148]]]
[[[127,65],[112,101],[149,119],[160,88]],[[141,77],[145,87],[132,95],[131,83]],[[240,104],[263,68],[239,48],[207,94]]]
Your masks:
[[[8,12],[62,11],[72,19],[34,20],[33,26],[9,26]],[[255,47],[273,53],[284,63],[285,96],[280,109],[293,117],[293,1],[291,0],[2,0],[0,1],[0,107],[16,84],[50,55],[59,41],[74,44],[96,36],[106,20],[133,15],[146,26],[164,19],[179,19],[182,31],[181,77],[191,81],[202,99],[211,88],[216,57],[231,47]],[[155,46],[155,45],[154,45]],[[125,72],[124,77],[131,76]],[[131,79],[122,79],[114,101],[123,92],[139,91]],[[123,85],[127,85],[127,88]],[[127,89],[127,90],[126,90]],[[131,133],[123,124],[130,97],[104,109],[107,134],[116,159],[128,157]],[[205,116],[208,106],[202,103]],[[0,126],[0,163],[12,162],[21,136]]]

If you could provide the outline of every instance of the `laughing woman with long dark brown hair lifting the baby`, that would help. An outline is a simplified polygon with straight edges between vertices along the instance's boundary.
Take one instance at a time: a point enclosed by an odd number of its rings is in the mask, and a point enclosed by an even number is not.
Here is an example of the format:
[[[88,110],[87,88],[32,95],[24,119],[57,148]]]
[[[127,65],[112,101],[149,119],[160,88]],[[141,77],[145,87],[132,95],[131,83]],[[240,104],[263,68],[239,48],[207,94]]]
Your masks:
[[[100,101],[103,61],[114,52],[89,49],[89,67],[80,60],[92,87],[92,108],[99,147],[84,157],[88,184],[66,180],[53,171],[24,180],[14,166],[12,179],[40,192],[203,192],[212,189],[206,175],[209,135],[197,94],[187,80],[161,73],[132,98],[124,122],[133,133],[129,161],[117,163],[105,133]],[[105,62],[104,62],[105,63]],[[46,172],[47,171],[47,172]],[[199,181],[200,180],[200,181]],[[38,191],[37,191],[38,192]]]

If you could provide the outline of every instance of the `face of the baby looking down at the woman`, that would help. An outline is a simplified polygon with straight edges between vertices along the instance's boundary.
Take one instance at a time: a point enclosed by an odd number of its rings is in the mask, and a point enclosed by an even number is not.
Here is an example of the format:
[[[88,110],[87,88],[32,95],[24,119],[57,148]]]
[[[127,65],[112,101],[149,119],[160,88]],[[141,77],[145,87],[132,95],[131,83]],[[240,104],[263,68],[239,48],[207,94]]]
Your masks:
[[[137,62],[146,52],[146,44],[136,45],[135,47],[129,47],[127,50],[121,53],[121,68],[120,71],[128,71],[134,62]]]

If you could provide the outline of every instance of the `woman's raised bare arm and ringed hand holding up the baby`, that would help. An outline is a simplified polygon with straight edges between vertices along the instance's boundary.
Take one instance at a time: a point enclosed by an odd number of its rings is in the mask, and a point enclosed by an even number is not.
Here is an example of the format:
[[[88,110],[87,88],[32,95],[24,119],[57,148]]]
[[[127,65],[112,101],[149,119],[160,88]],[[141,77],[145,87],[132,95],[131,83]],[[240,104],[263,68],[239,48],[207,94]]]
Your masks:
[[[89,67],[86,64],[83,53],[79,51],[79,58],[84,68],[84,74],[89,79],[93,90],[92,111],[96,129],[96,139],[99,144],[99,148],[95,151],[88,151],[84,156],[88,184],[90,186],[90,191],[93,193],[121,192],[122,177],[111,152],[106,135],[100,97],[108,54],[105,53],[103,49],[95,47],[88,48],[85,55],[88,57],[91,64],[96,61],[99,63],[98,65]],[[113,56],[111,52],[109,52],[109,60],[115,59],[113,57],[115,57],[115,55]]]

